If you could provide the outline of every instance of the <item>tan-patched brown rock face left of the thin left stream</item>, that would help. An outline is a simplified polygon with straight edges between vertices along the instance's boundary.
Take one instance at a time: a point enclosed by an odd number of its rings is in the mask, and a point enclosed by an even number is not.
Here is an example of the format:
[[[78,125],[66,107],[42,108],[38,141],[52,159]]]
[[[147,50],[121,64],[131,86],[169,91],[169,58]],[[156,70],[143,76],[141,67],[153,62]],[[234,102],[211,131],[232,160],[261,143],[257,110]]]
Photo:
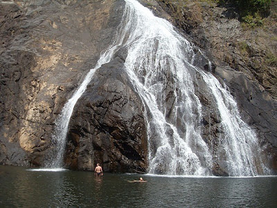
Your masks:
[[[42,164],[55,117],[113,41],[123,7],[0,1],[0,164]]]

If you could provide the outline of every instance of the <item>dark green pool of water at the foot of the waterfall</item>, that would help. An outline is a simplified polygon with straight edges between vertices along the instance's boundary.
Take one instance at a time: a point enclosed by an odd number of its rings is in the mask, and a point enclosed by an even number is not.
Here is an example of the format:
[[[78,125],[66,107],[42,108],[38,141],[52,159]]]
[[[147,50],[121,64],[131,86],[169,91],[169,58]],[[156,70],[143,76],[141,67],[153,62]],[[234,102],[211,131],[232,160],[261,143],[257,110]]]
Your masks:
[[[277,177],[156,177],[0,166],[0,207],[277,207]]]

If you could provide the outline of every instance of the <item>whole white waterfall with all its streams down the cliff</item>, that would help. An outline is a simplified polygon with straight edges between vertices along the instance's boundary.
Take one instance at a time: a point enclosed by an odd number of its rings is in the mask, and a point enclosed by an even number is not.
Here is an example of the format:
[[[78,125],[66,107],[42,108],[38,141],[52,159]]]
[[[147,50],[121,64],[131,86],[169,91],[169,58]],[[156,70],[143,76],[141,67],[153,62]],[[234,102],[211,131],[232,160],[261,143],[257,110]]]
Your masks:
[[[219,138],[219,151],[230,175],[258,175],[256,166],[267,174],[255,132],[240,118],[226,86],[220,85],[211,73],[194,66],[196,54],[202,54],[201,51],[179,35],[168,21],[155,17],[138,1],[125,0],[125,3],[114,44],[100,56],[96,67],[89,71],[56,120],[55,161],[48,166],[62,166],[69,119],[93,73],[109,62],[116,51],[127,49],[125,69],[145,108],[148,173],[212,175],[215,155],[202,138],[202,104],[194,88],[197,73],[217,105],[224,132]]]

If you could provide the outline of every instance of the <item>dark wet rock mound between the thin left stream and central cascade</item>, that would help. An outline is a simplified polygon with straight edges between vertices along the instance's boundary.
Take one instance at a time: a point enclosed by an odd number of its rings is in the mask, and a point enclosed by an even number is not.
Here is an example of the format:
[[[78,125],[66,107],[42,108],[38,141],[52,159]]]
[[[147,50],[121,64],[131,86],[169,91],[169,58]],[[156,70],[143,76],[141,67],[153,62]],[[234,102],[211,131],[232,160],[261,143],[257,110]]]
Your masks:
[[[87,91],[75,105],[66,148],[66,166],[92,170],[143,172],[148,141],[143,105],[116,58],[96,72]]]

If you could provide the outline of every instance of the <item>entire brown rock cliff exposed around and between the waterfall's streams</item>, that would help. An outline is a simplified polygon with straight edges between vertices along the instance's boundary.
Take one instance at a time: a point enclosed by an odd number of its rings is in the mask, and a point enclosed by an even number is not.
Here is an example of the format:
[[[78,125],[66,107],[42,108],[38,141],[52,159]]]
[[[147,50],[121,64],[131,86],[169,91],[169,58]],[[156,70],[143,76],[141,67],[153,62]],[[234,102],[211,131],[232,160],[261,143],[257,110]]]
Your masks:
[[[248,30],[233,8],[211,1],[178,2],[141,1],[205,51],[214,75],[229,87],[277,170],[276,65],[268,60],[276,57],[275,21]],[[124,5],[123,0],[0,1],[0,164],[44,164],[57,115],[113,41]],[[117,54],[103,65],[75,106],[67,168],[92,170],[100,162],[105,171],[147,171],[143,105],[123,63]],[[203,134],[211,144],[219,121],[210,114],[213,107],[201,83],[195,85],[207,109]],[[228,175],[218,161],[213,173]]]

